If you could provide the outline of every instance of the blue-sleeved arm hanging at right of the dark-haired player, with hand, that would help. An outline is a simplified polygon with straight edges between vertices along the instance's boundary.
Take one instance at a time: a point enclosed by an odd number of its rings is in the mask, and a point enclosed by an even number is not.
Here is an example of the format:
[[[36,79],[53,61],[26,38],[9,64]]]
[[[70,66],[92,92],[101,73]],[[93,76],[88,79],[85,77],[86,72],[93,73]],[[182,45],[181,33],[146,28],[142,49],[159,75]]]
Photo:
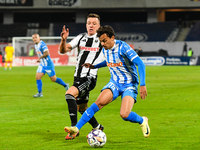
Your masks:
[[[147,96],[147,89],[145,85],[145,76],[146,76],[145,65],[138,56],[134,58],[132,62],[138,66],[138,72],[140,75],[140,98],[145,99]]]

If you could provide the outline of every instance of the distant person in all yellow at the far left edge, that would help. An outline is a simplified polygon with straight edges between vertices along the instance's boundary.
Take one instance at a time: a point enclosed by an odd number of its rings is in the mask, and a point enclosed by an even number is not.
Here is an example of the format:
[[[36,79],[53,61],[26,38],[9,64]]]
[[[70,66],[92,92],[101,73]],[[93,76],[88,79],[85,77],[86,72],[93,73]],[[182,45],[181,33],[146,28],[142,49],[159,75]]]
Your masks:
[[[8,43],[8,46],[5,48],[5,70],[7,70],[8,63],[10,63],[9,69],[12,69],[12,62],[14,57],[14,48],[11,43]]]

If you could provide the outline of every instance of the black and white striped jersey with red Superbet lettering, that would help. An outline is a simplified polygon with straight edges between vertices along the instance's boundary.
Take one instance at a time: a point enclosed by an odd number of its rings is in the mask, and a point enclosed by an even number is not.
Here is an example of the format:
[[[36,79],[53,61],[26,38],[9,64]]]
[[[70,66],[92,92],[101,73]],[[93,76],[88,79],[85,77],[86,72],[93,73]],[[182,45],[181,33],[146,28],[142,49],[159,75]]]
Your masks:
[[[96,78],[98,69],[82,67],[84,63],[96,65],[104,60],[102,46],[97,34],[89,36],[87,33],[79,34],[69,44],[72,49],[78,48],[78,56],[74,77],[82,78],[92,76]]]

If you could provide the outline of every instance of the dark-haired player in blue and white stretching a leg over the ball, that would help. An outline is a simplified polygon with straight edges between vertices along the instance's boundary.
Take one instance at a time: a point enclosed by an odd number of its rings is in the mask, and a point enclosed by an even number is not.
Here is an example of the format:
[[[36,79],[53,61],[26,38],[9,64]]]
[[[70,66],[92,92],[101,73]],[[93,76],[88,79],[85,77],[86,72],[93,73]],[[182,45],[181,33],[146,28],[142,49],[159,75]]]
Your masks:
[[[65,130],[72,135],[76,135],[96,112],[121,95],[120,116],[124,121],[140,124],[144,137],[148,137],[150,128],[147,117],[141,117],[132,111],[133,105],[137,101],[139,84],[136,66],[138,66],[140,75],[140,97],[145,99],[147,96],[144,63],[127,43],[115,40],[115,33],[112,27],[100,27],[97,31],[97,36],[103,46],[103,54],[106,60],[97,65],[85,63],[83,66],[96,69],[107,65],[111,74],[110,81],[104,86],[96,102],[85,111],[76,126],[65,127]]]

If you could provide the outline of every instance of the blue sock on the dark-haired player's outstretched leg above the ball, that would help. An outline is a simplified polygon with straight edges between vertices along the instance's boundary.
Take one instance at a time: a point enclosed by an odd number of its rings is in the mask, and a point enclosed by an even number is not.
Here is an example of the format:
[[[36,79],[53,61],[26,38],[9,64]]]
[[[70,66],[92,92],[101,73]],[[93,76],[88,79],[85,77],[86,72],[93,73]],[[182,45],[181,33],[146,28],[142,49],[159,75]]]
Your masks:
[[[81,116],[80,120],[76,124],[76,127],[80,130],[84,124],[86,124],[94,116],[94,114],[99,111],[97,104],[93,103]]]

